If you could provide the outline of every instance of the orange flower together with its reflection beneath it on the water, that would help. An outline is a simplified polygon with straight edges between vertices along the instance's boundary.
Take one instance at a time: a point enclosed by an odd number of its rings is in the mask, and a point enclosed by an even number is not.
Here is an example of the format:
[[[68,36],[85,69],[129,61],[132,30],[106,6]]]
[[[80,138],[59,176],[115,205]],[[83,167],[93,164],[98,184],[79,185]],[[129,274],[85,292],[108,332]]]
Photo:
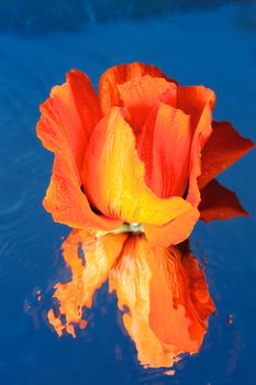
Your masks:
[[[197,260],[175,245],[200,216],[247,216],[214,177],[253,147],[212,121],[214,101],[133,63],[108,69],[99,97],[71,70],[41,106],[37,135],[55,153],[44,207],[75,229],[63,244],[73,277],[56,285],[59,308],[48,312],[59,336],[87,326],[82,309],[109,279],[143,365],[198,352],[215,308]]]

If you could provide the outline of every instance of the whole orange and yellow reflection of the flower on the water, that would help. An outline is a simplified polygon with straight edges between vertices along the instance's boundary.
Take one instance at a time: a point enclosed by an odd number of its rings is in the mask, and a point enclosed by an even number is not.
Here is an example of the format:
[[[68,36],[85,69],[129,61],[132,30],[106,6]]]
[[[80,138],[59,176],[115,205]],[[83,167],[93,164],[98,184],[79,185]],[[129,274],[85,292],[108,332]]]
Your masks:
[[[63,243],[63,255],[71,280],[55,286],[59,311],[48,311],[58,336],[66,331],[76,337],[75,326],[86,328],[82,309],[92,306],[96,289],[109,279],[142,365],[170,367],[182,353],[200,350],[215,307],[188,244],[165,249],[151,246],[143,234],[96,238],[73,230]]]

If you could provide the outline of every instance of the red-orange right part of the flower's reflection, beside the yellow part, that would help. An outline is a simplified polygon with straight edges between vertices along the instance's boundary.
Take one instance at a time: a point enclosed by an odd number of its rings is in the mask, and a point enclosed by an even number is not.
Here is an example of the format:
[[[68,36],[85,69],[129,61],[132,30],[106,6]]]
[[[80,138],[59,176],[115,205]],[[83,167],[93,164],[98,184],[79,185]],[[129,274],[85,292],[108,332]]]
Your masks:
[[[205,276],[190,251],[155,249],[151,258],[149,326],[158,339],[179,346],[180,352],[199,351],[215,311]]]

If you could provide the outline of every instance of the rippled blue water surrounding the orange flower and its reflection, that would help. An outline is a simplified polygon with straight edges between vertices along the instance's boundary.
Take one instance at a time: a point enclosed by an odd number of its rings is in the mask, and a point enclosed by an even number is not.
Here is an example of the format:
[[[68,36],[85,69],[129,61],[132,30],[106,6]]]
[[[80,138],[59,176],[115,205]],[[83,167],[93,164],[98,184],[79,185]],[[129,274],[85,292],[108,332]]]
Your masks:
[[[215,119],[256,141],[256,25],[252,4],[144,20],[90,22],[76,32],[0,33],[0,385],[254,385],[256,356],[255,152],[221,176],[249,219],[200,223],[194,252],[207,256],[218,308],[199,354],[167,377],[140,366],[104,286],[89,327],[58,339],[46,322],[55,282],[68,277],[59,253],[68,229],[41,201],[53,156],[35,136],[38,105],[65,73],[85,70],[97,85],[116,63],[154,64],[181,84],[218,95]],[[198,245],[200,243],[200,246]],[[36,301],[36,290],[43,301]],[[107,311],[105,311],[107,308]],[[233,323],[229,324],[229,315]]]

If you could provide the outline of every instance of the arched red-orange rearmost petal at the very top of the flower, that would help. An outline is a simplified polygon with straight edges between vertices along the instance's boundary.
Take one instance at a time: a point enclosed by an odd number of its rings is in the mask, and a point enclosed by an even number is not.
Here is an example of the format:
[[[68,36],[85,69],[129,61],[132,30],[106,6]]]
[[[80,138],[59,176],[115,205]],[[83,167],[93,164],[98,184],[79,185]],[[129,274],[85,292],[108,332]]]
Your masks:
[[[100,78],[99,92],[103,114],[108,114],[113,106],[123,106],[118,85],[137,79],[144,75],[166,78],[158,68],[143,63],[121,64],[104,72]]]

